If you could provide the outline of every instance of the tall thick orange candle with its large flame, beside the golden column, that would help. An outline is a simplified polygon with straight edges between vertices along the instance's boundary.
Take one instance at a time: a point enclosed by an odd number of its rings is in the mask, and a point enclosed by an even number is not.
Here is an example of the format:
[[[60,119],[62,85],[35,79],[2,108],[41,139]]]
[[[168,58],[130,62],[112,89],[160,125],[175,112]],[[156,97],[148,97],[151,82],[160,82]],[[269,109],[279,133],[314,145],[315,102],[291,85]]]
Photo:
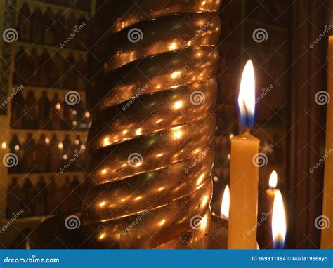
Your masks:
[[[231,139],[228,224],[230,249],[256,249],[259,165],[254,160],[259,156],[259,140],[249,133],[249,128],[254,124],[254,102],[254,68],[249,60],[242,73],[238,97],[242,126],[246,131]],[[249,232],[252,229],[254,232]]]

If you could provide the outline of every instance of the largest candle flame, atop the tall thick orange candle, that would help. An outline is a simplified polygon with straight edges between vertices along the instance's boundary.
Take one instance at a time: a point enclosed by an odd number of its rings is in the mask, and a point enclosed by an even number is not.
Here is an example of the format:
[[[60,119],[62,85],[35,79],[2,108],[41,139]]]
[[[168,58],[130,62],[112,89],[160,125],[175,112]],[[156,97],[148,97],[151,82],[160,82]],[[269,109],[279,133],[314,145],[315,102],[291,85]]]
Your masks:
[[[240,94],[238,95],[238,107],[243,128],[252,128],[254,125],[255,108],[255,82],[252,60],[248,60],[240,80]]]

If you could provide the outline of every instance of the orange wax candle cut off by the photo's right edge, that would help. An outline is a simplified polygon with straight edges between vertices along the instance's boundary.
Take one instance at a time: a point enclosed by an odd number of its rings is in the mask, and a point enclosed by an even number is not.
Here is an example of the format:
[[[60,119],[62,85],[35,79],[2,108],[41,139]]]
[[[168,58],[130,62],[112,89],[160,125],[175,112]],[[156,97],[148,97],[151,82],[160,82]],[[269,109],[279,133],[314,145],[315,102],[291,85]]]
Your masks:
[[[327,93],[333,98],[333,36],[328,39],[327,53]],[[326,115],[326,150],[332,152],[333,149],[333,102],[327,103]],[[332,222],[322,228],[321,248],[333,248],[333,156],[325,158],[325,175],[324,175],[324,194],[322,201],[322,219]]]

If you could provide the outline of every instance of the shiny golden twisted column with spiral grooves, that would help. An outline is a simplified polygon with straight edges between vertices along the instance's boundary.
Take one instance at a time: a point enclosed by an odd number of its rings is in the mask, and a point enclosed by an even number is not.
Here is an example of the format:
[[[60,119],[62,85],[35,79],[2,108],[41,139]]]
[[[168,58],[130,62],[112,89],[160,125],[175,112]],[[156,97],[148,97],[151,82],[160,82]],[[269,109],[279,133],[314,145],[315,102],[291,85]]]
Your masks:
[[[104,72],[93,91],[81,210],[100,248],[200,247],[207,233],[220,5],[100,4]]]

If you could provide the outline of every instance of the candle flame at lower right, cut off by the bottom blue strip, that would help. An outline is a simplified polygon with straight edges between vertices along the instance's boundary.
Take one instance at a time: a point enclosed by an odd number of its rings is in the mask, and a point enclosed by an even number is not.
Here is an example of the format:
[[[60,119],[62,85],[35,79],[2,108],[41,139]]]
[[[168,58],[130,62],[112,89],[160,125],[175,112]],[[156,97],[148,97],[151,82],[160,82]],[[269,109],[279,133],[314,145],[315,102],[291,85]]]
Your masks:
[[[286,230],[285,208],[283,206],[281,192],[278,190],[274,196],[272,215],[272,236],[273,247],[275,249],[281,249],[284,247]]]

